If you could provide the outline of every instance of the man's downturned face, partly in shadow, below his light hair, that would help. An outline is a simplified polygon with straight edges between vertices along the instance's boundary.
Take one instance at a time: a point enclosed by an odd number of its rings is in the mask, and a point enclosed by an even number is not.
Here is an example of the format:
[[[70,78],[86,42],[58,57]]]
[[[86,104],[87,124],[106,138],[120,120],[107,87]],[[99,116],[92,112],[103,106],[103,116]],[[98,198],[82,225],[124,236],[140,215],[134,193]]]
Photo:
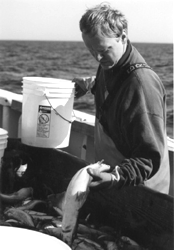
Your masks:
[[[125,43],[119,38],[104,37],[100,33],[95,36],[82,33],[83,41],[104,70],[111,69],[125,51]]]

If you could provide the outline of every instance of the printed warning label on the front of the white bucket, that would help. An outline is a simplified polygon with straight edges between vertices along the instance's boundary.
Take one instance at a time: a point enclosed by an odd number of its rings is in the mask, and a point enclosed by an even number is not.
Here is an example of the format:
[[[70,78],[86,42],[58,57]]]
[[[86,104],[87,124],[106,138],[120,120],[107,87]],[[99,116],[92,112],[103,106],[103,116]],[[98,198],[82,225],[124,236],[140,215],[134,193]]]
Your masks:
[[[39,105],[37,119],[37,137],[49,138],[51,107]]]

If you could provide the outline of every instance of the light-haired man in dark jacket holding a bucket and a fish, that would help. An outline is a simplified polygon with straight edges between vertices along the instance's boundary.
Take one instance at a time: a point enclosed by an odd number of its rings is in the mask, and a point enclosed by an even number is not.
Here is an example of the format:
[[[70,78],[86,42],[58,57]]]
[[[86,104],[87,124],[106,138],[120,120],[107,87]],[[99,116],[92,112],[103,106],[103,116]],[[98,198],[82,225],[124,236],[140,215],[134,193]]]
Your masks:
[[[80,30],[99,67],[95,79],[73,80],[76,97],[89,90],[95,95],[95,160],[108,164],[88,170],[90,187],[144,184],[167,194],[166,93],[161,80],[130,43],[120,11],[106,4],[88,9]]]

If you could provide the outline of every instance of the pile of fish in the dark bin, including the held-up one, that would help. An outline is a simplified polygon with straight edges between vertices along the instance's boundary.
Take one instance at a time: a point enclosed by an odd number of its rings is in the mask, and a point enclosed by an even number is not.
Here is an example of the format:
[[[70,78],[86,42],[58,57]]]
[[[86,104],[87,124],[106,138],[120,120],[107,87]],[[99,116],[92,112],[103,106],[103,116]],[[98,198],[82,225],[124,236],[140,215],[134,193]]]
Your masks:
[[[73,250],[144,250],[128,237],[118,235],[112,227],[91,225],[88,216],[83,220],[78,218],[91,181],[86,169],[74,175],[66,192],[48,195],[45,200],[35,199],[32,187],[12,194],[0,193],[0,225],[49,234]]]

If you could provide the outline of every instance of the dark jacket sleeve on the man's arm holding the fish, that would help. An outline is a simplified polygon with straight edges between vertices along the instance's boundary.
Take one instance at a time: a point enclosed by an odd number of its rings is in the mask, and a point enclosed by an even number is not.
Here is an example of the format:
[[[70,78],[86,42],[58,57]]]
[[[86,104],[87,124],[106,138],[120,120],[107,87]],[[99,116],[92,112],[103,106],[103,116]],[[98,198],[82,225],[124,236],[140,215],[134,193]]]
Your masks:
[[[164,89],[158,78],[142,81],[136,75],[120,103],[121,139],[115,143],[126,156],[119,165],[121,186],[143,184],[157,173],[164,154]]]

